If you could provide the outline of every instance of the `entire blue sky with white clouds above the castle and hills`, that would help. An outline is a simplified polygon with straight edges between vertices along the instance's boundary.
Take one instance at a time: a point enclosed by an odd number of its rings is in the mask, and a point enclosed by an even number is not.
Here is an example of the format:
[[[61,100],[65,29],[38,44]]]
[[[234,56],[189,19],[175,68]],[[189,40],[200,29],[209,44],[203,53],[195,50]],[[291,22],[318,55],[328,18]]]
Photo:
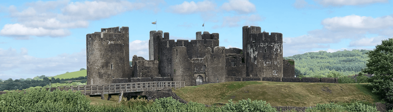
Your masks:
[[[130,59],[148,58],[149,32],[170,39],[219,33],[242,48],[242,27],[283,34],[283,55],[373,50],[393,37],[393,0],[6,0],[0,3],[0,79],[86,68],[86,34],[129,27]],[[157,21],[157,25],[152,22]],[[204,24],[205,27],[202,27]]]

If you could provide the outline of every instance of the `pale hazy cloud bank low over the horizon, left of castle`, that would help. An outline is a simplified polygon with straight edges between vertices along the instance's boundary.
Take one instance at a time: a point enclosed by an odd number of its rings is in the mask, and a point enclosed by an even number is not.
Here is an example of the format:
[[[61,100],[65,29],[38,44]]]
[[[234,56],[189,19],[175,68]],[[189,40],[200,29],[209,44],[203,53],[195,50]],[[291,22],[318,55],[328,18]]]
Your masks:
[[[86,68],[86,50],[72,54],[63,53],[55,57],[37,58],[28,55],[26,48],[21,52],[13,48],[0,48],[0,78],[8,79],[10,75],[33,78],[36,75],[57,75],[59,71]],[[15,77],[26,78],[26,77]]]

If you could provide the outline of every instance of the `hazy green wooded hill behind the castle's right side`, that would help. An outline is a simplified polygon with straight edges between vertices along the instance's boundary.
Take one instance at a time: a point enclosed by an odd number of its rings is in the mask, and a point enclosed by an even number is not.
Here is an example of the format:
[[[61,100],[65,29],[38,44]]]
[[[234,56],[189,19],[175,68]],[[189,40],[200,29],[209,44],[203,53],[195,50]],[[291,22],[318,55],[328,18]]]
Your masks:
[[[344,76],[355,75],[366,68],[370,50],[344,50],[337,52],[307,52],[284,57],[295,61],[295,74],[306,77],[326,77],[332,71],[338,71]]]

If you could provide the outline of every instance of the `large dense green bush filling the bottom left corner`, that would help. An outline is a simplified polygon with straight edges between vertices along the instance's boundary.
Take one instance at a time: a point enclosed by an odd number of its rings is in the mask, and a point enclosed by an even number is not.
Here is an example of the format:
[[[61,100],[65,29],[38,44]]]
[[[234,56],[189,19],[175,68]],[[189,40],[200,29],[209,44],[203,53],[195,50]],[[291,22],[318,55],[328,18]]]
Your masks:
[[[0,108],[1,112],[89,112],[90,100],[81,92],[32,89],[0,95]]]

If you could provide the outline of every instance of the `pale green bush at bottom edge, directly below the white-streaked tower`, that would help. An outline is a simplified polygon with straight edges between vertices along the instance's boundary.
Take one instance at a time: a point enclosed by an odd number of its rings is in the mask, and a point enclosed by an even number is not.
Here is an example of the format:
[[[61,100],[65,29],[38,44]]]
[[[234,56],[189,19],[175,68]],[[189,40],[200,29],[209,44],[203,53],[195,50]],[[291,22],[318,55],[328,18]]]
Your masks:
[[[262,100],[251,101],[248,98],[248,100],[239,100],[237,103],[233,103],[232,99],[228,102],[222,107],[223,112],[277,112],[276,108]]]

